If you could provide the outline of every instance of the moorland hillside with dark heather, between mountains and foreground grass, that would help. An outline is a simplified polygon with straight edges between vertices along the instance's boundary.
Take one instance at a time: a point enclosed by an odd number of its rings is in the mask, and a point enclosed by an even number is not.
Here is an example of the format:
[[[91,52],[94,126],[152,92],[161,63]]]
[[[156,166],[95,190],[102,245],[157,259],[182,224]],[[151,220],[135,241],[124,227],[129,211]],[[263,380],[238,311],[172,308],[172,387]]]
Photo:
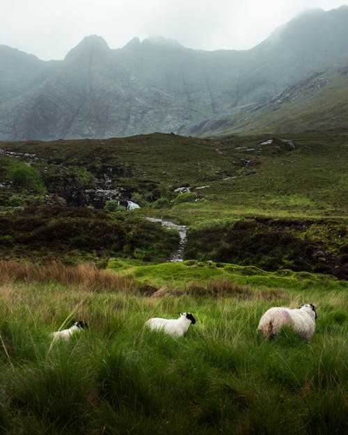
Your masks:
[[[187,259],[347,278],[347,141],[335,130],[2,142],[1,255],[165,260],[178,239],[143,221],[155,216],[189,226]],[[141,208],[104,209],[123,200]]]

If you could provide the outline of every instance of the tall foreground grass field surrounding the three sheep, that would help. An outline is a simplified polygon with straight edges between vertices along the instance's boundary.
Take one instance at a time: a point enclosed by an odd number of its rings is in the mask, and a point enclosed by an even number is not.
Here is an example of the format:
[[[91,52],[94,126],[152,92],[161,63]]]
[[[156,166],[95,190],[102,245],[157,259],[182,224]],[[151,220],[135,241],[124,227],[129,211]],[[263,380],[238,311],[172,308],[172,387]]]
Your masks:
[[[232,264],[110,267],[0,263],[3,434],[346,432],[345,281]],[[318,313],[310,342],[256,333],[270,306],[306,301]],[[197,319],[182,339],[143,328],[180,311]],[[71,319],[88,330],[52,344]]]

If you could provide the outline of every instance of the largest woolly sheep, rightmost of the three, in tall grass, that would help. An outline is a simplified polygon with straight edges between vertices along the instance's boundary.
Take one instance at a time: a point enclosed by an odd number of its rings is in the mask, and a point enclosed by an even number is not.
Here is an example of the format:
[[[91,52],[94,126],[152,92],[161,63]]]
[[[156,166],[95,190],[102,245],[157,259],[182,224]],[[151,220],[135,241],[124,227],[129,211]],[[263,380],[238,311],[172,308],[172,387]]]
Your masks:
[[[274,307],[262,315],[258,331],[264,338],[274,338],[282,326],[290,326],[294,333],[310,340],[315,331],[317,308],[313,303],[302,303],[299,308]]]

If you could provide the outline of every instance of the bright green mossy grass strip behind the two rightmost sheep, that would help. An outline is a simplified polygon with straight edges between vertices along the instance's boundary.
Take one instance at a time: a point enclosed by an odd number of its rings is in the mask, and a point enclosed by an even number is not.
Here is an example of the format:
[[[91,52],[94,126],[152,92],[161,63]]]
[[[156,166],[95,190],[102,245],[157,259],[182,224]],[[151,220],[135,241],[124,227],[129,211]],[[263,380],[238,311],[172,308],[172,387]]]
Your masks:
[[[151,283],[162,294],[166,289],[170,293],[175,289],[179,294],[190,293],[190,285],[207,287],[208,281],[229,280],[237,285],[252,286],[253,290],[271,290],[281,288],[285,290],[311,290],[312,292],[331,290],[347,290],[347,281],[338,280],[330,275],[310,274],[308,272],[294,272],[290,269],[280,271],[264,271],[253,266],[239,266],[238,264],[215,263],[212,261],[187,260],[184,262],[132,265],[120,259],[111,259],[109,270],[118,271],[119,276],[134,278],[139,283]],[[226,295],[225,295],[226,296]]]

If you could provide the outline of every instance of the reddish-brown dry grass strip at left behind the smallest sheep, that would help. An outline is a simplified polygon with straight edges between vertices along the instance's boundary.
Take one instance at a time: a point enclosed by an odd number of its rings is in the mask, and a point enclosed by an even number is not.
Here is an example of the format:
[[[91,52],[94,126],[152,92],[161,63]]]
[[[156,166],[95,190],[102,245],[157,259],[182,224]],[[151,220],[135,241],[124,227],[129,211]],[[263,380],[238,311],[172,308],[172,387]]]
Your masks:
[[[76,285],[85,290],[139,291],[139,285],[130,278],[121,278],[115,272],[102,271],[93,263],[66,266],[60,262],[49,264],[0,261],[0,283],[61,283]]]

